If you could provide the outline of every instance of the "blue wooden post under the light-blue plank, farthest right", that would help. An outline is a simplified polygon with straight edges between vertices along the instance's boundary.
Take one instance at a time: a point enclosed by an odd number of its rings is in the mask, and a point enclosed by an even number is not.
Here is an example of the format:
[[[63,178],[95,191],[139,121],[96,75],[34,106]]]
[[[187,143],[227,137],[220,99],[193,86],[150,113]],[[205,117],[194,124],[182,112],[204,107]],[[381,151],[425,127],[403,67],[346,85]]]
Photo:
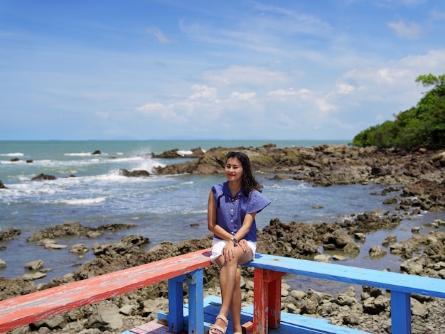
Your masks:
[[[411,334],[410,294],[391,291],[391,333]]]

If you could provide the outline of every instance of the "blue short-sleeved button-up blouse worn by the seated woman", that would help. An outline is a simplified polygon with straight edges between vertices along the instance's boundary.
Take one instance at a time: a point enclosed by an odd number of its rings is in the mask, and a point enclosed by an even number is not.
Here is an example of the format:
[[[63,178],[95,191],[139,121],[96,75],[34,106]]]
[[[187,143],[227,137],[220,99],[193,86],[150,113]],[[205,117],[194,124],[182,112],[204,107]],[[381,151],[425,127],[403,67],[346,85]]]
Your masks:
[[[249,193],[249,197],[246,197],[241,189],[240,192],[232,197],[228,182],[213,185],[212,192],[215,195],[217,223],[232,235],[235,235],[240,230],[247,213],[260,212],[270,204],[270,200],[264,197],[258,190],[252,190]],[[221,239],[216,235],[214,237]],[[252,226],[244,239],[252,242],[257,241],[255,220],[252,222]]]

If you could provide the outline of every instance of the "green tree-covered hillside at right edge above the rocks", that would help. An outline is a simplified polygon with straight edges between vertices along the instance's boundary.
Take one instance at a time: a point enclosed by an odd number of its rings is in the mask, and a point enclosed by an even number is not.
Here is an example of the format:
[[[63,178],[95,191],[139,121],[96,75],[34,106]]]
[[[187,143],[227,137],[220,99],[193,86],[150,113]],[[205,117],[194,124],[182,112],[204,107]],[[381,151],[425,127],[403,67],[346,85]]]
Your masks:
[[[419,75],[416,82],[433,86],[422,99],[394,121],[370,126],[353,139],[355,146],[402,149],[445,149],[445,75]]]

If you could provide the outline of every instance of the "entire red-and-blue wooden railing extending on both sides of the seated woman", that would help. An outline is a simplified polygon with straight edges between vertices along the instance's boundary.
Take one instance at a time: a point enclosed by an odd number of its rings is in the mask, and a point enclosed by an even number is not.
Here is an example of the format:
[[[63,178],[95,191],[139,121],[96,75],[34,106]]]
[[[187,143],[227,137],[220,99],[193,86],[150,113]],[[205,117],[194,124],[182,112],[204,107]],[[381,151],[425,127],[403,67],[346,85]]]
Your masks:
[[[203,249],[0,301],[0,332],[168,280],[168,330],[180,333],[187,329],[188,333],[203,334],[208,328],[203,320],[203,269],[211,265],[209,254],[210,249]],[[282,325],[281,283],[284,274],[374,286],[390,291],[392,334],[411,333],[411,293],[445,298],[445,281],[423,276],[267,254],[257,254],[254,261],[245,266],[254,268],[253,317],[252,322],[245,324],[245,328],[254,334],[265,334],[269,329],[274,332],[274,328]],[[184,282],[189,289],[187,323],[183,313]],[[365,333],[321,322],[320,319],[305,316],[298,319],[291,322],[298,333]]]

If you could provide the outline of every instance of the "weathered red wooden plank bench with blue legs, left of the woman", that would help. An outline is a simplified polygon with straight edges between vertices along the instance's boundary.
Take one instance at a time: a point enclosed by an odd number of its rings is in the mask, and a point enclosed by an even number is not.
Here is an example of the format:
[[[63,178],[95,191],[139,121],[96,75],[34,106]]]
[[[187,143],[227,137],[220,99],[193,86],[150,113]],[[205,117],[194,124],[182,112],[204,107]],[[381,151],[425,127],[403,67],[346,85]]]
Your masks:
[[[109,274],[92,277],[91,279],[75,281],[51,289],[0,301],[0,332],[4,333],[38,320],[80,308],[81,306],[118,296],[122,293],[187,275],[191,275],[190,279],[193,280],[192,290],[195,291],[189,291],[189,295],[200,298],[197,300],[202,301],[203,268],[211,264],[209,255],[210,249],[203,249],[198,252],[114,271]],[[169,283],[169,289],[171,285],[173,292],[169,291],[168,293],[169,303],[173,312],[178,308],[178,305],[181,305],[182,308],[183,304],[182,285],[180,292],[179,284],[174,282]],[[197,289],[196,286],[199,288]],[[176,295],[173,293],[176,293]],[[191,297],[189,296],[189,298]],[[176,301],[176,299],[178,300]],[[202,304],[202,302],[198,303],[195,301],[193,303],[198,306]],[[197,317],[198,321],[200,321],[198,313]],[[196,320],[193,321],[195,323],[192,326],[197,326]],[[181,328],[182,323],[182,318],[179,320],[172,317],[170,321],[170,325],[176,326],[176,329]]]

